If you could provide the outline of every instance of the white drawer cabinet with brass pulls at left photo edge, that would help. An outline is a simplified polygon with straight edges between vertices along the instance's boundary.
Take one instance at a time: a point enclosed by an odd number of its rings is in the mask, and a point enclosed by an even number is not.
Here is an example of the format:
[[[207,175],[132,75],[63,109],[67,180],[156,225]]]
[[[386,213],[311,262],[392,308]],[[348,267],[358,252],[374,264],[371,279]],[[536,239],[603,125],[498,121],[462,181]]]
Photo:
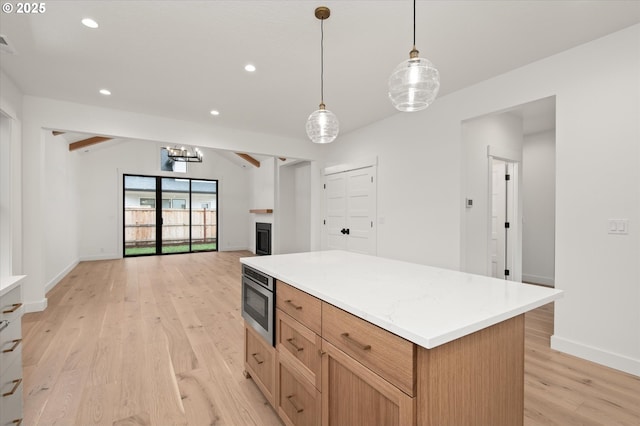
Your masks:
[[[22,422],[22,278],[0,282],[0,426]]]

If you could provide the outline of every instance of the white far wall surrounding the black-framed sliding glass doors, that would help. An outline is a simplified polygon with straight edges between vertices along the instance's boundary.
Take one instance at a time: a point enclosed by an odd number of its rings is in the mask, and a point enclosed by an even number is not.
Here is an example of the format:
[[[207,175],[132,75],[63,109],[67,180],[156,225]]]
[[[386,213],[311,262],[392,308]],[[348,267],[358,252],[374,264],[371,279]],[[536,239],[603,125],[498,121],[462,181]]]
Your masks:
[[[66,145],[64,139],[58,140]],[[80,259],[122,256],[122,175],[217,179],[219,194],[218,249],[245,250],[249,243],[249,176],[240,166],[203,148],[205,160],[189,163],[187,173],[160,171],[159,142],[119,140],[103,142],[89,152],[74,151],[79,192]]]

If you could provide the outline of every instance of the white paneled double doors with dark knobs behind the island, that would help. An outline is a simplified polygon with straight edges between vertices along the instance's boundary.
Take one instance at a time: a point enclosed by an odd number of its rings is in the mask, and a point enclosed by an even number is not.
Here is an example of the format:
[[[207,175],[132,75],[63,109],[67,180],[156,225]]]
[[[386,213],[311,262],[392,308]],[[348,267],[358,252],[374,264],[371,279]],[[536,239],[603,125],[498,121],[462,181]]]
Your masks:
[[[376,254],[375,167],[325,176],[326,248]]]

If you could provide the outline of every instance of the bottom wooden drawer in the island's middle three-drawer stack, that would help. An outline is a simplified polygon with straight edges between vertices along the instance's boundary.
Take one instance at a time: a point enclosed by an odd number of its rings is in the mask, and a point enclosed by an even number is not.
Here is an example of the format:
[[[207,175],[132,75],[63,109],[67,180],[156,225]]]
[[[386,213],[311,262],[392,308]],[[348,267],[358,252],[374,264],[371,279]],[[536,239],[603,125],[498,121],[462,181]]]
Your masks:
[[[278,363],[278,415],[288,426],[320,426],[322,398],[311,382]]]

